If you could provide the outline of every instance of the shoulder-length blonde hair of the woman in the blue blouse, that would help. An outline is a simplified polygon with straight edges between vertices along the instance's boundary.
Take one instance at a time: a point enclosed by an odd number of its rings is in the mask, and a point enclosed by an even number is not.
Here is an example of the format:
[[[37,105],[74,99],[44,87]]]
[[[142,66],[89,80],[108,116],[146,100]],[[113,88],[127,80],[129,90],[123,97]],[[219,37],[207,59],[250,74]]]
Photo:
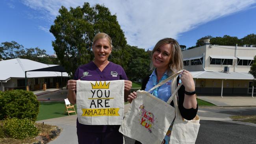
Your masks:
[[[155,66],[152,63],[153,59],[153,54],[154,52],[160,48],[161,46],[165,44],[171,44],[171,60],[169,61],[168,69],[167,69],[167,74],[170,76],[174,74],[174,72],[178,72],[179,70],[182,70],[183,68],[183,59],[182,59],[182,52],[180,50],[180,45],[179,43],[172,38],[165,38],[161,39],[156,43],[156,46],[151,52],[151,64],[150,64],[150,70],[154,70]]]

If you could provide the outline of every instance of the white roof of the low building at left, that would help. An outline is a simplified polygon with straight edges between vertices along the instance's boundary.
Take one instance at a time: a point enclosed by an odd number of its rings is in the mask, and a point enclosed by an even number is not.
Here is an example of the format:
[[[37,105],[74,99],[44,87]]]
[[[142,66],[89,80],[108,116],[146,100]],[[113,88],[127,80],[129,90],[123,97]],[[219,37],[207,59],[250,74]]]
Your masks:
[[[7,81],[10,78],[25,78],[25,71],[46,68],[56,65],[47,65],[29,59],[8,59],[0,61],[0,81]],[[57,77],[61,72],[27,72],[27,78],[40,77]],[[68,77],[66,72],[62,73],[63,77]]]

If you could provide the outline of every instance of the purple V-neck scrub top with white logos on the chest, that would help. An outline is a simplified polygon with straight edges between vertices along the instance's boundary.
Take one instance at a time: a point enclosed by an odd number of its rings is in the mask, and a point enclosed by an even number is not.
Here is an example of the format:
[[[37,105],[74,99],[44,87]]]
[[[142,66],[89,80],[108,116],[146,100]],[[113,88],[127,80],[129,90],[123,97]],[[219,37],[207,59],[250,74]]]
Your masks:
[[[122,66],[109,62],[101,72],[100,69],[92,61],[77,68],[74,74],[74,80],[77,79],[83,81],[112,81],[120,79],[128,80]],[[109,131],[118,131],[120,125],[84,125],[80,124],[78,120],[76,120],[76,127],[78,133],[104,133]]]

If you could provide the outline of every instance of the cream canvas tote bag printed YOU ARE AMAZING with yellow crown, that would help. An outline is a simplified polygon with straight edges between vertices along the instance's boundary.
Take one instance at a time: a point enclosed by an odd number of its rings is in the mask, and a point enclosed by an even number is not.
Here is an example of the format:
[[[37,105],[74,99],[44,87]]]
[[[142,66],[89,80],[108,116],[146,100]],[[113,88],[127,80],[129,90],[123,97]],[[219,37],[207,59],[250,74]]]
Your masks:
[[[121,125],[124,115],[124,80],[76,81],[80,124]]]

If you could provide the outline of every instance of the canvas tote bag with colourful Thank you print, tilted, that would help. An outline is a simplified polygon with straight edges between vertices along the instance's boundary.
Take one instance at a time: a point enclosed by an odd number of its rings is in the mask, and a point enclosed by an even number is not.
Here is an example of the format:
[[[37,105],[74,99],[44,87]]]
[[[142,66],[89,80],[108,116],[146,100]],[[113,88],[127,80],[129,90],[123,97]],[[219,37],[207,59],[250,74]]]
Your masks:
[[[172,83],[176,85],[174,81],[180,72],[182,70],[161,81],[148,92],[171,79]],[[175,117],[175,109],[170,103],[176,97],[180,86],[172,91],[167,102],[144,90],[137,90],[137,97],[132,101],[128,112],[125,114],[119,132],[138,140],[142,144],[161,144]]]

